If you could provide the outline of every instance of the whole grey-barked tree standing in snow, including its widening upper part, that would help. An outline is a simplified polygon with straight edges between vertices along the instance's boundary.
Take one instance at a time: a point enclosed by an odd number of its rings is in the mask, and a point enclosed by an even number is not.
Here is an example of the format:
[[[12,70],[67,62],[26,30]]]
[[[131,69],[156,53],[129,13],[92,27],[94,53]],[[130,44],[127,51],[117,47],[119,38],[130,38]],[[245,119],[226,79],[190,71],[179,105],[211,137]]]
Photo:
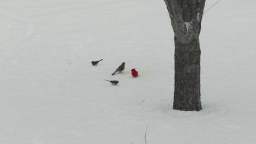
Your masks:
[[[164,0],[171,18],[175,43],[173,109],[200,111],[199,34],[205,0]]]

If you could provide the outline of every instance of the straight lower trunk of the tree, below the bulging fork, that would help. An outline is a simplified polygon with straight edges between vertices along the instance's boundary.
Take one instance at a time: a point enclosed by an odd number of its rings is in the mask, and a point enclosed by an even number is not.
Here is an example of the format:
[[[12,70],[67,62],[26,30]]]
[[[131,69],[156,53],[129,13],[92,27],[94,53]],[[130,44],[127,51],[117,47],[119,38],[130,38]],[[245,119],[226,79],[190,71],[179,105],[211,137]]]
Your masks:
[[[175,42],[175,86],[173,109],[184,111],[199,111],[200,94],[200,56],[199,40],[189,44]]]

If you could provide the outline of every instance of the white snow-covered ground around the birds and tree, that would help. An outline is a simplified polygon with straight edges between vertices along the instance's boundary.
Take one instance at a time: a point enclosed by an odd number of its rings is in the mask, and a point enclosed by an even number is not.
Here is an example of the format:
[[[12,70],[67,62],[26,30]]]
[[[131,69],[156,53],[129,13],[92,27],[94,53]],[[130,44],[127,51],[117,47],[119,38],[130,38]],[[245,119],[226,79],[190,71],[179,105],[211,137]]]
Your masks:
[[[255,143],[255,7],[222,0],[203,16],[203,110],[183,112],[164,1],[1,0],[0,143],[137,144],[147,125],[149,144]]]

